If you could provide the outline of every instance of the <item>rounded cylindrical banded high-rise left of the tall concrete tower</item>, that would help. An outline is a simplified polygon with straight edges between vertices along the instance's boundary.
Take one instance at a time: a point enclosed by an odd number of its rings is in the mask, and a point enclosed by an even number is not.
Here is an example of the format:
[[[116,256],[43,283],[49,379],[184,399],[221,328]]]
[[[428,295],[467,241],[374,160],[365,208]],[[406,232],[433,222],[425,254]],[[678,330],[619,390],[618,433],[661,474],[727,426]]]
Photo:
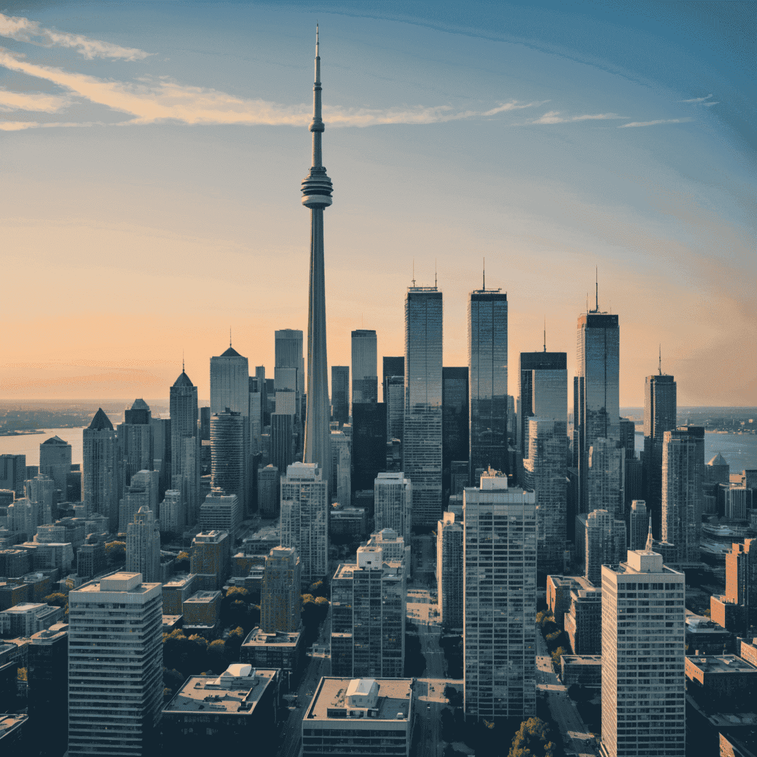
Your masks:
[[[210,416],[210,485],[236,494],[242,512],[248,512],[248,468],[245,459],[247,419],[233,410]]]

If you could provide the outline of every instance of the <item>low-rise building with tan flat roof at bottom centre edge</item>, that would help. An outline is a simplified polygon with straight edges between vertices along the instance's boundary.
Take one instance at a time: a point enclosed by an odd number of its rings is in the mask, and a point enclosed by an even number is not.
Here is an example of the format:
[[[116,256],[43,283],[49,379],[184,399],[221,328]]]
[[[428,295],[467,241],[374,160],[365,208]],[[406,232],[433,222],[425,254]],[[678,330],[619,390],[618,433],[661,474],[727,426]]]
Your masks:
[[[410,755],[412,678],[321,678],[302,719],[302,757]]]

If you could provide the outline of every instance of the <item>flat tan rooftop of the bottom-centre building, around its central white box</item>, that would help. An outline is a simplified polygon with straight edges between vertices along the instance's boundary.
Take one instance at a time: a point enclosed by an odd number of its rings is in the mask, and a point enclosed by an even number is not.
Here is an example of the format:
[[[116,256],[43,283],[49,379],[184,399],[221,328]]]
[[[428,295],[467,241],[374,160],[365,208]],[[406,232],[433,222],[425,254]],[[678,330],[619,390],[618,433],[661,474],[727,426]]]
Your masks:
[[[321,681],[313,695],[310,706],[305,713],[304,720],[336,720],[347,717],[350,709],[347,703],[348,693],[350,696],[358,693],[350,690],[350,684],[360,679],[353,678],[321,678]],[[378,699],[375,712],[369,715],[373,720],[403,720],[407,721],[410,716],[410,702],[413,696],[412,678],[371,678],[366,679],[372,685],[378,684]],[[355,687],[353,687],[354,689]],[[363,712],[365,708],[356,707],[352,710]],[[400,715],[401,717],[397,717]]]

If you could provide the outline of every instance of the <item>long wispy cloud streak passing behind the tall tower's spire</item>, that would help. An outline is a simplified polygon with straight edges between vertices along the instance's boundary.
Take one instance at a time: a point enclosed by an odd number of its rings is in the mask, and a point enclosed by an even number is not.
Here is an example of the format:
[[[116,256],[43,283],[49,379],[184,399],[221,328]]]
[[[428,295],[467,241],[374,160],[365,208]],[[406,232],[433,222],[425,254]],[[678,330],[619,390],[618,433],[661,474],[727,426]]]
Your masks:
[[[185,86],[163,77],[139,79],[138,83],[98,79],[83,73],[39,66],[3,48],[0,48],[0,65],[28,76],[46,79],[79,98],[129,114],[131,119],[120,122],[122,125],[179,121],[188,124],[304,126],[311,117],[310,104],[285,105],[262,99],[239,98],[217,89]],[[487,111],[456,111],[450,105],[385,110],[332,106],[324,107],[323,117],[332,126],[444,123],[466,118],[492,117],[540,104],[543,102],[520,103],[513,100],[500,103]]]

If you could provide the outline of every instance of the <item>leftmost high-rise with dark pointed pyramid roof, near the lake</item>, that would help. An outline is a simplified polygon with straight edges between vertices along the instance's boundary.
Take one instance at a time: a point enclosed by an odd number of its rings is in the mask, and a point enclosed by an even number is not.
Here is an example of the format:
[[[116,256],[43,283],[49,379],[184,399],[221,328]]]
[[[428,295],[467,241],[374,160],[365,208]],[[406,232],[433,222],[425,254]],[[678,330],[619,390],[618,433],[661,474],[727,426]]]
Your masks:
[[[113,424],[100,408],[83,434],[83,501],[88,515],[99,512],[111,531],[118,528],[118,445]]]

